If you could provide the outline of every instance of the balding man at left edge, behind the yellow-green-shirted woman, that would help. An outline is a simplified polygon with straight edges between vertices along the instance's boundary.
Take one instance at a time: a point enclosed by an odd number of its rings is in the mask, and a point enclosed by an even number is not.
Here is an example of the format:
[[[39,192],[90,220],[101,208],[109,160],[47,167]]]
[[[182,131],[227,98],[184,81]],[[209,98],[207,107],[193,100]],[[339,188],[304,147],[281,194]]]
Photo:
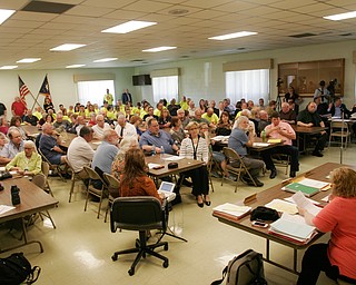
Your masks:
[[[17,154],[23,150],[23,140],[18,129],[9,130],[8,137],[10,141],[0,150],[0,165],[10,163]]]

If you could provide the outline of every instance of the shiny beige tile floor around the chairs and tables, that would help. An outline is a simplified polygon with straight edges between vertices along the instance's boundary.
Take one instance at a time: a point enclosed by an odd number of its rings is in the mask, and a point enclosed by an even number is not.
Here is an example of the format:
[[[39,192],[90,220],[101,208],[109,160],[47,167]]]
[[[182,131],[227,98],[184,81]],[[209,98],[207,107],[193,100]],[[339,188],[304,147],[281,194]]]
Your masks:
[[[355,145],[344,150],[344,164],[355,164]],[[314,168],[323,163],[339,163],[340,149],[337,146],[324,151],[324,158],[314,156],[300,157],[300,173]],[[136,274],[128,275],[128,269],[135,255],[119,257],[111,261],[115,250],[134,246],[137,233],[117,232],[112,234],[109,223],[103,223],[103,217],[96,218],[97,204],[90,204],[83,212],[83,194],[78,191],[72,203],[68,203],[69,180],[60,181],[51,178],[55,196],[59,199],[59,207],[50,210],[57,229],[48,220],[38,222],[30,230],[29,237],[40,239],[44,253],[40,254],[37,245],[22,247],[32,265],[42,268],[39,285],[93,285],[93,284],[210,284],[220,278],[224,266],[235,255],[248,248],[264,253],[263,238],[241,232],[219,223],[211,216],[212,207],[226,202],[235,203],[244,199],[256,190],[264,190],[281,179],[285,179],[284,169],[279,168],[278,176],[269,179],[268,174],[261,177],[265,183],[263,188],[254,189],[240,186],[234,193],[234,184],[226,183],[220,186],[220,180],[214,179],[215,193],[211,193],[211,207],[199,208],[189,194],[182,188],[184,203],[176,205],[170,214],[170,226],[175,226],[188,243],[171,237],[169,250],[162,252],[169,258],[169,267],[164,268],[161,262],[148,256],[140,262]],[[17,240],[7,232],[0,232],[1,245],[14,244]],[[323,238],[327,242],[327,236]],[[271,256],[279,263],[291,265],[291,249],[278,245],[271,248]],[[1,254],[7,256],[9,253]],[[301,254],[299,254],[303,256]],[[300,259],[300,258],[299,258]],[[269,284],[295,284],[296,276],[265,263],[265,274]],[[318,284],[334,284],[323,274]]]

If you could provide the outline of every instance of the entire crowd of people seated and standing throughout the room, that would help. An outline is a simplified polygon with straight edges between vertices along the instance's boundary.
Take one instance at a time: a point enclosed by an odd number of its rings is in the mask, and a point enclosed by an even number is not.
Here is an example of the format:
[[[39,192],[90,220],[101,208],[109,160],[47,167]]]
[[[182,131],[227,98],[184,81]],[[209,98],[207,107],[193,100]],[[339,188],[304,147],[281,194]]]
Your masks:
[[[216,159],[220,164],[225,176],[229,176],[228,164],[238,167],[243,161],[250,175],[243,175],[241,181],[253,187],[261,187],[264,184],[258,176],[263,168],[269,170],[269,178],[274,179],[277,170],[271,157],[275,154],[285,154],[290,157],[289,176],[295,177],[299,170],[299,149],[294,144],[296,132],[291,125],[325,127],[328,117],[348,117],[356,112],[356,105],[348,110],[340,98],[325,102],[325,92],[319,92],[300,110],[301,99],[289,88],[280,105],[280,111],[277,111],[275,100],[265,106],[263,98],[256,105],[253,100],[244,99],[235,105],[228,98],[218,105],[215,100],[201,99],[196,107],[194,100],[184,96],[179,104],[172,99],[168,105],[166,99],[161,99],[155,108],[147,100],[142,100],[134,107],[128,90],[122,95],[122,101],[118,100],[112,106],[113,97],[107,90],[101,108],[88,101],[87,106],[78,102],[69,106],[68,110],[63,105],[59,105],[55,111],[53,104],[47,98],[43,108],[37,107],[32,112],[21,108],[19,98],[16,98],[10,124],[7,120],[7,108],[0,104],[0,165],[6,165],[6,169],[17,170],[19,174],[38,175],[41,171],[41,156],[37,153],[39,149],[50,164],[69,164],[83,181],[88,179],[83,167],[91,166],[99,175],[111,174],[120,180],[120,187],[116,189],[118,196],[154,196],[162,202],[156,184],[147,175],[145,155],[178,155],[202,161],[200,167],[184,173],[181,180],[192,187],[191,194],[199,207],[210,206],[207,168],[209,159]],[[23,125],[37,126],[42,130],[36,144],[29,140]],[[354,132],[355,126],[354,124]],[[61,145],[58,136],[62,131],[77,135],[68,148]],[[221,146],[217,146],[211,139],[214,135],[229,136],[227,146],[241,159],[228,161]],[[260,159],[251,157],[248,148],[258,136],[281,139],[283,145],[261,151]],[[313,155],[323,157],[327,132],[323,130],[315,137]],[[96,151],[89,145],[92,139],[101,141]],[[186,180],[187,177],[190,177],[191,181]],[[333,200],[320,214],[313,217],[306,210],[299,209],[309,224],[333,234],[329,245],[315,245],[307,250],[298,284],[315,284],[320,271],[325,271],[332,278],[356,278],[355,269],[350,266],[355,262],[355,255],[350,256],[348,249],[345,249],[350,246],[355,223],[348,223],[348,219],[338,218],[337,215],[343,208],[343,216],[349,216],[355,206],[355,185],[347,183],[356,179],[355,171],[339,168],[334,170],[332,178]],[[99,185],[98,187],[100,188]],[[179,189],[176,191],[179,198]],[[318,263],[319,259],[323,263]],[[316,267],[315,264],[319,266]]]

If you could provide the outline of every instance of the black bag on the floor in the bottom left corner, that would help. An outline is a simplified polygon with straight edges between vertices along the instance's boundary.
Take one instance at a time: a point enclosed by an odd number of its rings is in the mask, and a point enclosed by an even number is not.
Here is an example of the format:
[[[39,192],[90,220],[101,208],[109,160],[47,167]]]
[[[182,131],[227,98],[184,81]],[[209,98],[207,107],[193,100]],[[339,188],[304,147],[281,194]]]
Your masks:
[[[9,257],[0,258],[0,284],[32,284],[38,279],[40,272],[41,268],[38,266],[31,268],[23,253],[14,253]]]

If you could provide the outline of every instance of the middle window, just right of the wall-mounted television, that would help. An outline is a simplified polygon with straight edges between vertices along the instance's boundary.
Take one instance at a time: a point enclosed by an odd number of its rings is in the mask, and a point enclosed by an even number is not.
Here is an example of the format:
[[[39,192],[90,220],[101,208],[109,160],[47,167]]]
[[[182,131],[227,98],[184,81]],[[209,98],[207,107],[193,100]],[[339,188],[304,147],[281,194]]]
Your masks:
[[[152,78],[154,101],[166,99],[168,102],[178,98],[178,76],[154,77]]]

